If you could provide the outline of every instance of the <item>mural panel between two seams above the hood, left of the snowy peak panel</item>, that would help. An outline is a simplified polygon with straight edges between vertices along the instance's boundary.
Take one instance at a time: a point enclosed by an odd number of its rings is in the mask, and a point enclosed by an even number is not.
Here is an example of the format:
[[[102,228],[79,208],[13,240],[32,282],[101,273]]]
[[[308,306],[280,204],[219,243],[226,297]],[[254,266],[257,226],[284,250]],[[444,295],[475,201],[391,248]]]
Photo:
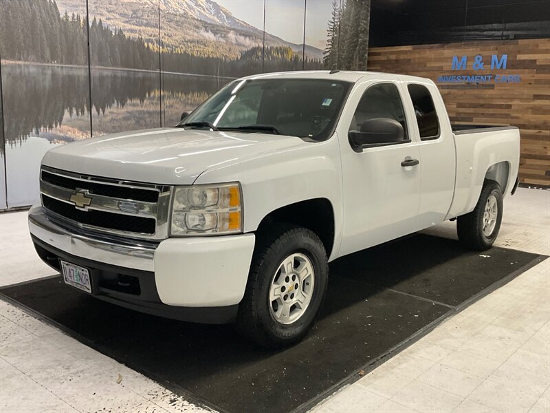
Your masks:
[[[161,126],[158,1],[89,0],[94,136]]]

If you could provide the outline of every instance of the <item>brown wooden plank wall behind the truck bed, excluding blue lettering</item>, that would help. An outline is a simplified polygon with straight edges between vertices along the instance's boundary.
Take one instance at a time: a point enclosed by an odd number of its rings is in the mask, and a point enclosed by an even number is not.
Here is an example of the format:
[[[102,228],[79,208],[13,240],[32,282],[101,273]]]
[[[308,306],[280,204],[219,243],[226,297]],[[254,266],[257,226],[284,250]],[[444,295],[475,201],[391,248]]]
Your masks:
[[[494,54],[508,55],[507,70],[491,70]],[[472,69],[476,55],[483,56],[485,70]],[[467,56],[467,70],[452,70],[453,56]],[[437,84],[452,123],[519,127],[521,181],[550,185],[550,39],[375,47],[369,70],[436,83],[441,75],[520,75],[520,83]]]

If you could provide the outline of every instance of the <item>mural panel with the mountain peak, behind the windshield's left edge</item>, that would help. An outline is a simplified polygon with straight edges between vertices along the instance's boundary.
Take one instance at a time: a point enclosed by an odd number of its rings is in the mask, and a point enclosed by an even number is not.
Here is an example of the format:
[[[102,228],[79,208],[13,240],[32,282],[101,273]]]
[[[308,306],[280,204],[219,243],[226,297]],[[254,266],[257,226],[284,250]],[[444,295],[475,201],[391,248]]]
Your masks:
[[[233,78],[261,73],[263,0],[161,2],[164,123]]]

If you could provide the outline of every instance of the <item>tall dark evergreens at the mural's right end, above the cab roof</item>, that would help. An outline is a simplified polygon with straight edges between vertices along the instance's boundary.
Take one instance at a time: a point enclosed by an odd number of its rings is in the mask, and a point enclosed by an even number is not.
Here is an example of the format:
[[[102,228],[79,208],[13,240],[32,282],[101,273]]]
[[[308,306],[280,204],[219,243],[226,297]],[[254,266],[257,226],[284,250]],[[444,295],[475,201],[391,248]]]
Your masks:
[[[366,70],[369,49],[370,0],[333,0],[327,29],[326,69]]]

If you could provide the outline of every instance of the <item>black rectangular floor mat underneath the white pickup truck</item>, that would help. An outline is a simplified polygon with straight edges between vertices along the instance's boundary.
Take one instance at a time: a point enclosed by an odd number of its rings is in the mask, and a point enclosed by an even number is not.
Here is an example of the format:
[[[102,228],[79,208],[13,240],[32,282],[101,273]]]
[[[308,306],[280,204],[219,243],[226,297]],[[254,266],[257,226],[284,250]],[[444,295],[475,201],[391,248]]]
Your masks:
[[[331,264],[316,326],[281,352],[255,348],[231,326],[188,324],[107,304],[61,277],[0,293],[174,392],[219,410],[277,413],[311,407],[543,259],[504,248],[472,253],[428,235],[341,258]]]

